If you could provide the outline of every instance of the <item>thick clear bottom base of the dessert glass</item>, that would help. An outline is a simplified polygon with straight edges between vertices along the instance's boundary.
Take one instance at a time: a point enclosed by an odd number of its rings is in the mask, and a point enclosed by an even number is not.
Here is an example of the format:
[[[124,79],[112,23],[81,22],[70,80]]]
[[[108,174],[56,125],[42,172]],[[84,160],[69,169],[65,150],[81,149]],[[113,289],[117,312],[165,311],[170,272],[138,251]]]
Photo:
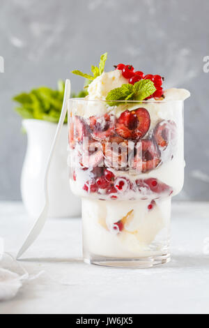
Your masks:
[[[169,263],[171,256],[169,253],[162,255],[153,255],[141,258],[84,258],[87,264],[99,265],[100,267],[123,268],[123,269],[146,269],[158,267]]]

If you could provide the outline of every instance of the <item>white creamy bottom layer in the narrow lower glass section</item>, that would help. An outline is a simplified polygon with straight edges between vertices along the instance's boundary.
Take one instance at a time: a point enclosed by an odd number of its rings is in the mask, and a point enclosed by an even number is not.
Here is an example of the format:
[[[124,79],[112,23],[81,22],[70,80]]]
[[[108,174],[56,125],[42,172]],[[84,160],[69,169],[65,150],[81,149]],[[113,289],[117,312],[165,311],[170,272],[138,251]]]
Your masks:
[[[162,253],[169,236],[171,199],[157,202],[148,210],[149,202],[82,201],[84,249],[89,254],[129,258]],[[127,217],[122,232],[111,231],[111,225]],[[155,251],[152,244],[155,241]],[[157,251],[157,248],[159,251]]]

